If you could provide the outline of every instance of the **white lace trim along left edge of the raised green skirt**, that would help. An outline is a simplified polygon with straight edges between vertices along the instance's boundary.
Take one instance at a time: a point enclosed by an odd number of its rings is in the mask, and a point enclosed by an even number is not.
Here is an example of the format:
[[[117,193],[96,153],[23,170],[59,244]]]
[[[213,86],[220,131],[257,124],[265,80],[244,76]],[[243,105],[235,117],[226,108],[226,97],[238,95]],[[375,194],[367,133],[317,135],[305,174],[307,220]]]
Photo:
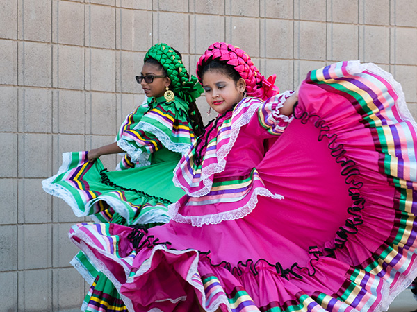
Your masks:
[[[75,216],[83,217],[87,216],[87,214],[85,214],[85,212],[79,209],[74,196],[72,196],[72,193],[65,189],[65,187],[62,187],[59,184],[52,183],[54,182],[56,177],[58,177],[58,175],[68,171],[72,158],[71,155],[72,153],[63,153],[63,164],[58,169],[58,173],[56,173],[56,175],[52,177],[43,180],[42,189],[44,189],[44,191],[47,192],[49,195],[63,199],[68,205],[70,205],[72,211],[74,211]]]

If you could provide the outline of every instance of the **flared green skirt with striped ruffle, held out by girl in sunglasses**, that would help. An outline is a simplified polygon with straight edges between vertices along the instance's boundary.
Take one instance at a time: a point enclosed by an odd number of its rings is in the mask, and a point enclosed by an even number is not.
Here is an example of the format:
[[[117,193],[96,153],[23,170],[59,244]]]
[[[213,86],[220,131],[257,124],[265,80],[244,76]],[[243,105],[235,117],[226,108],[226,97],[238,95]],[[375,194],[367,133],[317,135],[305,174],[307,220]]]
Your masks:
[[[125,218],[128,225],[167,223],[170,220],[167,206],[183,194],[167,177],[176,164],[163,162],[129,169],[125,175],[133,175],[129,179],[136,180],[136,184],[124,187],[112,180],[113,175],[122,172],[106,172],[99,159],[88,162],[87,152],[63,153],[63,164],[58,173],[42,181],[42,186],[47,193],[65,200],[76,216],[90,216],[95,222],[111,222],[116,213]],[[112,176],[109,178],[108,175]],[[117,179],[123,180],[122,176]],[[165,193],[161,195],[165,198],[149,193],[149,186],[140,191],[140,181],[149,179],[157,180],[154,181],[154,193],[159,193],[158,189],[163,186]]]

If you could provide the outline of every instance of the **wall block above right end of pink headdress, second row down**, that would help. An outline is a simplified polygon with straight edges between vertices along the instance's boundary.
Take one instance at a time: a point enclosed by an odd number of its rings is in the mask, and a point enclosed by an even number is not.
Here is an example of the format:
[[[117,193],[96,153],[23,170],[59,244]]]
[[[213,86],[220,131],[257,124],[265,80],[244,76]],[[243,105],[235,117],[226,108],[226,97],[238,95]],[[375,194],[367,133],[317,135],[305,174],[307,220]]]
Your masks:
[[[261,55],[266,58],[293,58],[293,21],[261,21]]]

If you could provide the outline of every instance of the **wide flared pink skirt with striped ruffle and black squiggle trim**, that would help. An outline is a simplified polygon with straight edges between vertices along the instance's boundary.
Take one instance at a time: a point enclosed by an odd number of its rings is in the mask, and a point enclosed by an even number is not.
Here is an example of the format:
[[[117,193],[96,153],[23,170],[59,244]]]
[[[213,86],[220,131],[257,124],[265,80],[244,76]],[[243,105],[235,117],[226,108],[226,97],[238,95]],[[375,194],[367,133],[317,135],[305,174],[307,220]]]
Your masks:
[[[400,85],[334,64],[309,73],[294,116],[256,168],[283,200],[202,227],[72,227],[129,311],[385,311],[409,286],[417,126]]]

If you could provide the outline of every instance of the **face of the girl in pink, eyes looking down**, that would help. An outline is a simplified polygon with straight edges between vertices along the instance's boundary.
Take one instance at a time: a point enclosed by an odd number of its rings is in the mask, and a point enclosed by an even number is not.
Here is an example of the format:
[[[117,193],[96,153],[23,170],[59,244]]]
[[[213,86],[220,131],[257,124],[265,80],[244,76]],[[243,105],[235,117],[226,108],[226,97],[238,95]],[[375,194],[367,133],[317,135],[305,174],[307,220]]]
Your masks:
[[[208,105],[222,114],[242,100],[246,83],[243,78],[235,83],[221,71],[208,70],[203,76],[203,87]]]

